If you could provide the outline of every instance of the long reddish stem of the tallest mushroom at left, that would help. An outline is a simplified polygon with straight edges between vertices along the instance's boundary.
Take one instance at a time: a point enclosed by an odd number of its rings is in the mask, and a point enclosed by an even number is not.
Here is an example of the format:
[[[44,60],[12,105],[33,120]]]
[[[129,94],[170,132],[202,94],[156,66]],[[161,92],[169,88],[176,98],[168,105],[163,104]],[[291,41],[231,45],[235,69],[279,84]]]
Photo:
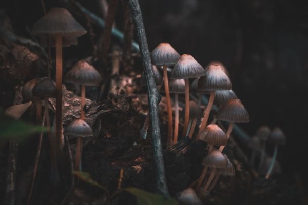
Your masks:
[[[56,34],[56,104],[55,133],[57,151],[61,153],[62,139],[62,35]],[[47,118],[47,117],[46,117]]]

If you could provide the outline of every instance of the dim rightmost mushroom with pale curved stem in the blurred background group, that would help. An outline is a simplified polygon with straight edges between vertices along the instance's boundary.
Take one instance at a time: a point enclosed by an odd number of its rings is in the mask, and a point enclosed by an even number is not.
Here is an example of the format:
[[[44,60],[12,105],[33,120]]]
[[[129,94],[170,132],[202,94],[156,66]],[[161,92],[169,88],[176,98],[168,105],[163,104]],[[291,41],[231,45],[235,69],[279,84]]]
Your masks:
[[[269,135],[268,138],[269,142],[275,145],[275,149],[274,149],[274,154],[273,154],[273,158],[272,158],[272,162],[271,165],[268,168],[268,171],[266,173],[265,178],[268,179],[273,171],[274,165],[275,165],[275,160],[277,158],[277,153],[278,153],[278,146],[279,145],[284,145],[286,143],[286,137],[284,135],[284,133],[282,132],[282,130],[278,127],[274,128],[271,135]]]

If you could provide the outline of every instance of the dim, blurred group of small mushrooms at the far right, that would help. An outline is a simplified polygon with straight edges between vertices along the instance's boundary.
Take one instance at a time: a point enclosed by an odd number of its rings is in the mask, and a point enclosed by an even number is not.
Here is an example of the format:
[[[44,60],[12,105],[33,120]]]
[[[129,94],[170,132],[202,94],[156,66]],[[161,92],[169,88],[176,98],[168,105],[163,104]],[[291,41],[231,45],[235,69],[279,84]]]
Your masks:
[[[274,145],[273,156],[269,157],[266,152],[266,143]],[[279,127],[273,130],[266,125],[261,126],[255,136],[249,141],[249,148],[251,148],[251,166],[254,167],[259,175],[265,175],[268,179],[273,172],[280,172],[279,163],[276,161],[278,154],[278,146],[286,143],[286,137]],[[256,163],[256,158],[259,161]]]

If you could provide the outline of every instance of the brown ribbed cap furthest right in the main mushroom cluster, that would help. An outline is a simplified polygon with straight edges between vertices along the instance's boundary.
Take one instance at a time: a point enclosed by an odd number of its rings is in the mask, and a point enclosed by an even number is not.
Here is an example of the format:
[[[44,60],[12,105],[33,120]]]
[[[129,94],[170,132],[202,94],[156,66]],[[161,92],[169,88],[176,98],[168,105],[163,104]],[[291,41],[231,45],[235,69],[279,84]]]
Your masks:
[[[218,109],[216,118],[229,122],[249,122],[249,114],[239,99],[229,99]]]

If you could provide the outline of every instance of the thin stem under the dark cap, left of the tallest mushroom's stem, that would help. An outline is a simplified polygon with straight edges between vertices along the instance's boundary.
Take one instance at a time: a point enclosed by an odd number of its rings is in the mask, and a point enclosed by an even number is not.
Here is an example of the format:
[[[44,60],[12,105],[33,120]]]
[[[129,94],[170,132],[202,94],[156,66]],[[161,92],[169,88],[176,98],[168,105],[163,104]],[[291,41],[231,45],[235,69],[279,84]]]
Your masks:
[[[54,140],[51,134],[50,118],[49,118],[49,111],[48,111],[48,97],[45,97],[44,110],[45,110],[46,126],[48,129],[49,147],[50,147],[51,174],[53,175],[52,180],[55,180],[54,183],[56,185],[58,182],[57,180],[59,180],[59,173],[58,173],[57,164],[56,164],[56,153],[55,153],[55,148],[54,148],[55,144],[54,144]]]

